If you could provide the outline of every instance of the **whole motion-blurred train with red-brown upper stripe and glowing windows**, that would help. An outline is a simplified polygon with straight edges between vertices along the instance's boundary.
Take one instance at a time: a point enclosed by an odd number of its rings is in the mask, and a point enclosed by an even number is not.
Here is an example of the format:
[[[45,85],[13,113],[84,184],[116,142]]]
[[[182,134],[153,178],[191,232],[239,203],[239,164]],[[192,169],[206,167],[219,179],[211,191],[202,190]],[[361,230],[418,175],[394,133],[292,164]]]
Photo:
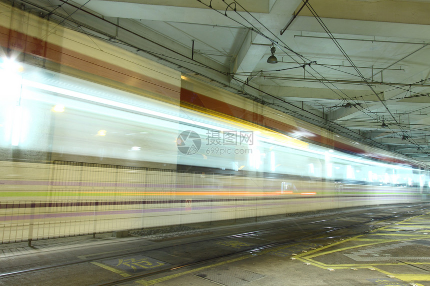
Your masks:
[[[407,158],[8,9],[1,243],[428,199]]]

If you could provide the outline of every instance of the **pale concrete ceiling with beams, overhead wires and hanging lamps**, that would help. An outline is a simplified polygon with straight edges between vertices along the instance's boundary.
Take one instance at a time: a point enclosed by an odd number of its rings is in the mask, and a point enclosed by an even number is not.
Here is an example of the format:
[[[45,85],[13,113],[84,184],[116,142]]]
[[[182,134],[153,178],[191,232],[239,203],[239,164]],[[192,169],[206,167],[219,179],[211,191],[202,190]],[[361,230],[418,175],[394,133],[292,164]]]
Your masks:
[[[280,112],[430,164],[430,0],[14,1],[21,3]],[[266,62],[271,45],[276,64]]]

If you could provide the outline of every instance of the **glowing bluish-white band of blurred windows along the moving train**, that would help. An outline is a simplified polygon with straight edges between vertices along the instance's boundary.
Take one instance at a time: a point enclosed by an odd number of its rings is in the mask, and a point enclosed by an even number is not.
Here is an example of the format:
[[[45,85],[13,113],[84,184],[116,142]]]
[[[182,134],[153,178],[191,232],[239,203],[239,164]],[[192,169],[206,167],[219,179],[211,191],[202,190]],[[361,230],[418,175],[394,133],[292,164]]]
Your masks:
[[[428,182],[428,177],[413,173],[408,166],[391,166],[309,145],[239,121],[214,120],[213,116],[55,72],[20,65],[8,73],[4,66],[9,65],[3,63],[2,75],[10,79],[5,89],[11,96],[1,106],[3,148],[11,145],[60,157],[97,154],[101,159],[220,170],[239,171],[240,167],[241,171],[366,183],[422,187]],[[193,156],[182,156],[176,150],[175,138],[178,130],[188,129],[202,140],[206,140],[208,130],[252,132],[253,141],[240,144],[240,150],[237,146],[212,146]],[[40,146],[49,148],[39,150]]]

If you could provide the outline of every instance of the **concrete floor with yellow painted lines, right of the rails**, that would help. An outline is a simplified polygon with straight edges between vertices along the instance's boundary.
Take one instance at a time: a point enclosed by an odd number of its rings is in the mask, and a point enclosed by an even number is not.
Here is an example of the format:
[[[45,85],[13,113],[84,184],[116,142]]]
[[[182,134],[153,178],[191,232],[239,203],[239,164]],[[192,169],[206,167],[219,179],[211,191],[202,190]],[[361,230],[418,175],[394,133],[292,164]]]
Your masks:
[[[430,213],[380,224],[364,235],[297,243],[137,285],[430,286]]]

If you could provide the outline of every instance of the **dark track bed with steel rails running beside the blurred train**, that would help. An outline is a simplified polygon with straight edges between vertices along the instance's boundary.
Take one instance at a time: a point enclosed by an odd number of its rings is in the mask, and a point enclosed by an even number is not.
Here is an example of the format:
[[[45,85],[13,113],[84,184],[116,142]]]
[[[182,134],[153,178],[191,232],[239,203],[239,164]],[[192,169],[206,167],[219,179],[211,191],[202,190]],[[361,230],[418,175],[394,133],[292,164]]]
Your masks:
[[[428,209],[430,209],[428,204],[416,204],[407,207],[372,208],[370,211],[368,209],[355,209],[348,213],[322,214],[316,217],[286,218],[283,221],[266,222],[263,225],[237,226],[235,230],[231,228],[212,229],[211,235],[152,242],[149,245],[142,244],[140,247],[138,245],[145,242],[144,239],[120,243],[112,242],[107,246],[110,246],[110,248],[122,248],[123,251],[88,254],[87,258],[84,259],[82,259],[82,256],[74,256],[73,261],[68,259],[66,262],[58,260],[58,255],[60,254],[53,253],[52,260],[41,260],[39,265],[26,265],[25,269],[17,269],[19,266],[9,264],[7,268],[2,267],[0,285],[18,285],[14,284],[14,280],[17,277],[21,278],[19,279],[19,285],[25,285],[22,284],[22,280],[26,280],[23,278],[36,281],[37,277],[45,276],[46,273],[61,276],[61,273],[73,272],[73,268],[94,268],[94,266],[109,265],[108,262],[123,261],[133,256],[144,256],[151,259],[147,260],[147,263],[159,264],[158,267],[139,269],[135,273],[132,273],[133,267],[128,271],[120,270],[120,272],[128,274],[128,276],[120,278],[116,276],[116,278],[113,277],[113,279],[108,280],[104,279],[101,273],[98,273],[94,274],[95,279],[92,282],[95,283],[80,283],[80,285],[97,286],[126,284],[140,279],[190,271],[204,265],[231,260],[244,255],[256,255],[260,252],[286,245],[301,242],[324,244],[330,240],[344,239],[372,231],[375,229],[375,225],[381,222],[389,224],[389,221],[404,220],[407,217],[423,214],[428,212]],[[243,231],[243,229],[246,229],[246,231]],[[18,256],[13,260],[20,261],[25,259],[26,256],[28,255]],[[77,257],[80,257],[80,259]],[[58,263],[55,263],[55,261]],[[17,264],[19,265],[19,263]],[[114,265],[110,264],[108,268],[114,268]],[[137,269],[137,266],[135,266],[135,269]],[[99,270],[105,271],[102,268],[99,268]],[[64,285],[67,285],[67,283]]]

